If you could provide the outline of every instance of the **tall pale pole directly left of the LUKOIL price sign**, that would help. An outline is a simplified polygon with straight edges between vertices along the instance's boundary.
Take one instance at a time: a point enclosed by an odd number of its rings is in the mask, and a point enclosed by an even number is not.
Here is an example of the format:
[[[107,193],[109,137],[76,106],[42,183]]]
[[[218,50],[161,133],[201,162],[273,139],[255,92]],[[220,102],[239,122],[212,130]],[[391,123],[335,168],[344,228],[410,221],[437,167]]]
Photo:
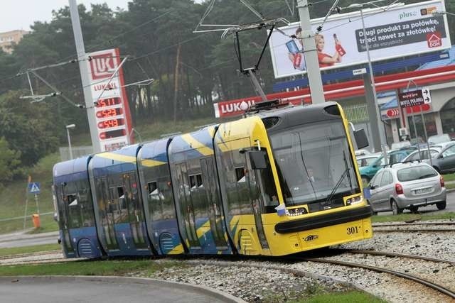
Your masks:
[[[95,106],[93,104],[92,92],[90,91],[90,80],[88,77],[87,54],[85,53],[84,38],[80,28],[79,11],[77,11],[76,0],[69,0],[71,24],[73,25],[74,40],[76,45],[77,61],[79,62],[80,79],[84,91],[85,109],[87,109],[88,126],[92,138],[93,152],[101,151],[100,140],[98,140],[97,123],[95,121]]]

